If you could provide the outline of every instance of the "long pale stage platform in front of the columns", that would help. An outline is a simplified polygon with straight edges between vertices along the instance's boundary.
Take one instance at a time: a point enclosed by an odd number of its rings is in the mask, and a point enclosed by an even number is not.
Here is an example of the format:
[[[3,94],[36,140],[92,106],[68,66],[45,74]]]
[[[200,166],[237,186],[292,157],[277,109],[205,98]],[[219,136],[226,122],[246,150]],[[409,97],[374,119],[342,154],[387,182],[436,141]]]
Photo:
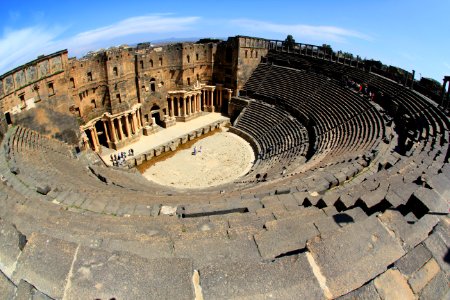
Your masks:
[[[138,156],[139,154],[145,153],[149,149],[167,144],[175,138],[200,129],[208,124],[212,124],[214,122],[222,120],[229,120],[229,118],[222,116],[220,113],[208,113],[188,122],[177,122],[174,126],[162,129],[157,133],[148,136],[142,135],[138,141],[122,147],[117,151],[113,149],[103,148],[101,156],[104,162],[106,162],[108,165],[112,165],[110,154],[118,153],[120,151],[128,153],[128,150],[132,148],[134,150],[134,155]]]

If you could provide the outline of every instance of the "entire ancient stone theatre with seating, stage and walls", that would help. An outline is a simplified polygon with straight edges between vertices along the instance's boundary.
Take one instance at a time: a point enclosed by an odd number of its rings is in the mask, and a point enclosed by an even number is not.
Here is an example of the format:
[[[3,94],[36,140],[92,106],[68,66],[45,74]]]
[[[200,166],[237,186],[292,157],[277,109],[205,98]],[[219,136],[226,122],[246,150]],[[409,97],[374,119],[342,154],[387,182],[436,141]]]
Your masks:
[[[3,74],[1,298],[448,297],[450,77],[389,70],[235,36]]]

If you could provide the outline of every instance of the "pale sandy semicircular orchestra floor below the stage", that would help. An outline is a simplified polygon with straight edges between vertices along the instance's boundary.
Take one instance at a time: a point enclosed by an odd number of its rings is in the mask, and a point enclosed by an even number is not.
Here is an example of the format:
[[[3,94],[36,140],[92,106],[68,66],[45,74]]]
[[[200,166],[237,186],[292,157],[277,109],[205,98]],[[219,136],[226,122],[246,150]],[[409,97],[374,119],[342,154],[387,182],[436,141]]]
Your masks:
[[[244,139],[222,129],[199,140],[191,149],[180,150],[167,160],[157,162],[142,175],[177,188],[216,186],[245,175],[255,159],[253,150]],[[196,155],[193,155],[194,147]]]

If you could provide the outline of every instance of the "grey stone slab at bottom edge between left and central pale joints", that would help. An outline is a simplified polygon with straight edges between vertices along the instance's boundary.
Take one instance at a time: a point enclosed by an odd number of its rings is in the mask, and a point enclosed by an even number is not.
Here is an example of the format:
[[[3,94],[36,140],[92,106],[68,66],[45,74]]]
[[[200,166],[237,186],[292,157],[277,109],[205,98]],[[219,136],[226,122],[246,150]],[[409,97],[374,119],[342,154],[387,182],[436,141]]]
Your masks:
[[[192,299],[192,261],[80,247],[65,299]]]

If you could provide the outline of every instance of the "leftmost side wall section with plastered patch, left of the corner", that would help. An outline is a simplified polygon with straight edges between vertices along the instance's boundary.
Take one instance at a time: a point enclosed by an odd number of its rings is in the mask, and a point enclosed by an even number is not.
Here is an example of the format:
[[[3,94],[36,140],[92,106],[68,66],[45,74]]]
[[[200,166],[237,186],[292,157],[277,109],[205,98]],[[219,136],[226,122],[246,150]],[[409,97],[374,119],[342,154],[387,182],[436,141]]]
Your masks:
[[[2,130],[22,124],[76,143],[77,122],[68,93],[67,50],[40,56],[0,76]]]

